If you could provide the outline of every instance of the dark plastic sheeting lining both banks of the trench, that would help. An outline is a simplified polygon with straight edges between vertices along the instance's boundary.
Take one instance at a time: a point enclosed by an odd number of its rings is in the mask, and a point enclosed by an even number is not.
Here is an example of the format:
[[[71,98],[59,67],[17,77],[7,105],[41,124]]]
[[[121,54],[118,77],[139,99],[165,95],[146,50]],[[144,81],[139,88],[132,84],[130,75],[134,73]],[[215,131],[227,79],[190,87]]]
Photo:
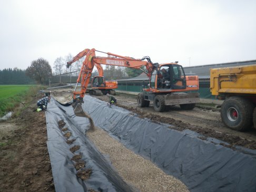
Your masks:
[[[83,108],[92,117],[95,126],[106,130],[136,154],[150,159],[166,174],[180,179],[190,191],[256,191],[255,150],[241,149],[244,151],[241,152],[213,144],[212,138],[209,138],[209,141],[201,140],[198,135],[188,130],[178,132],[165,125],[137,118],[125,109],[116,106],[110,108],[106,102],[87,95],[84,97]],[[79,151],[83,154],[86,166],[91,166],[96,173],[99,171],[99,176],[92,174],[92,178],[86,182],[81,182],[75,176],[75,169],[70,160],[70,146],[65,143],[60,130],[55,128],[56,122],[60,119],[66,119],[68,122],[72,129],[72,137],[77,137],[75,142],[84,145]],[[105,166],[112,169],[111,166],[83,134],[88,126],[88,120],[84,119],[74,116],[72,107],[54,105],[53,102],[48,106],[48,150],[55,189],[68,191],[71,183],[75,186],[71,187],[72,189],[77,187],[77,190],[80,190],[87,186],[99,189],[104,183],[107,187],[112,187],[109,190],[105,187],[107,191],[132,191],[133,189],[129,189],[121,178],[118,181],[114,179],[114,183],[112,176],[108,175],[112,170],[105,170]],[[104,164],[97,163],[98,159]],[[91,161],[95,165],[91,165]],[[112,174],[118,177],[115,171]],[[115,185],[125,186],[125,189],[117,189]]]

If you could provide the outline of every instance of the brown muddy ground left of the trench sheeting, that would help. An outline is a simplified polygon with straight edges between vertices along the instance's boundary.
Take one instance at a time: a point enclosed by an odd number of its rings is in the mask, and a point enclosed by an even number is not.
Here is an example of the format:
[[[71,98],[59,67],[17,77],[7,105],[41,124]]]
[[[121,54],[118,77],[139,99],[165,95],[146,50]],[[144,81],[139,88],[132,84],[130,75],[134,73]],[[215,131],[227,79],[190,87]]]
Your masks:
[[[55,191],[38,94],[16,118],[0,122],[0,191]]]

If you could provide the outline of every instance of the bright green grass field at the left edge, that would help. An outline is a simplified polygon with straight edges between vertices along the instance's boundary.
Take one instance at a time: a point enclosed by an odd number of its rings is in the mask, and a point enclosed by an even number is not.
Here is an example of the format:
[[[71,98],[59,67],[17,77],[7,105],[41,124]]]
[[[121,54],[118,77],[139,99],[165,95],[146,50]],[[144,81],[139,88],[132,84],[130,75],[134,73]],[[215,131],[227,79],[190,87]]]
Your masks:
[[[35,89],[33,85],[0,85],[0,117],[19,106]]]

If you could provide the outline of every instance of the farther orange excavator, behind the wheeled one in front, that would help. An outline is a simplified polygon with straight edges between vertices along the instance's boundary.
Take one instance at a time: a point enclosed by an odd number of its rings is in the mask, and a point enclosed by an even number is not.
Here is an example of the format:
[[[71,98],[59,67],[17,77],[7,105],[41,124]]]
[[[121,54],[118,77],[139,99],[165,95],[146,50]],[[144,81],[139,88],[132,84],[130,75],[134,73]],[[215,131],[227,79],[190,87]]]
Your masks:
[[[82,52],[78,53],[75,57],[73,57],[69,62],[67,62],[67,68],[71,64],[76,62],[78,59],[81,59],[82,57],[84,57],[89,50],[90,49],[84,49],[82,50]],[[90,88],[87,87],[88,93],[90,95],[102,95],[102,94],[106,95],[107,93],[111,95],[115,95],[116,93],[114,89],[118,87],[117,82],[105,80],[102,66],[96,63],[95,63],[95,66],[99,72],[99,76],[94,76],[92,78],[91,87]],[[78,77],[77,82],[80,82],[80,78],[81,77]]]

